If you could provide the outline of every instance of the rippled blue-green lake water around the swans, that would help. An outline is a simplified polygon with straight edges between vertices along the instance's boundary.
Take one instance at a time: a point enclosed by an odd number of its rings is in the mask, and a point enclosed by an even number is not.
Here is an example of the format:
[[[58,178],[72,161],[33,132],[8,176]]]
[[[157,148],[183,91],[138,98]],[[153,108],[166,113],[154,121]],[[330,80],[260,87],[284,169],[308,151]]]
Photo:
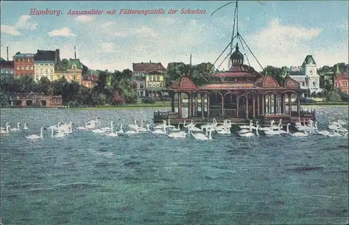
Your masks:
[[[320,130],[348,118],[348,106],[313,108]],[[3,224],[348,223],[348,138],[24,137],[96,116],[127,130],[157,110],[1,109],[1,126],[29,127],[0,139]]]

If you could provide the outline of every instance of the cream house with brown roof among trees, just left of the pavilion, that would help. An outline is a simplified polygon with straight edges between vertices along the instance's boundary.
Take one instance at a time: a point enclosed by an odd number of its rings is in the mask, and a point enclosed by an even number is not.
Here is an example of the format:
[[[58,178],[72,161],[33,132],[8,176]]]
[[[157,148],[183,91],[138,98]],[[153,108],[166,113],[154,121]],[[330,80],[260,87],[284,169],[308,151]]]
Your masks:
[[[140,97],[165,95],[166,68],[161,63],[133,63],[133,79]],[[161,96],[160,96],[161,95]]]

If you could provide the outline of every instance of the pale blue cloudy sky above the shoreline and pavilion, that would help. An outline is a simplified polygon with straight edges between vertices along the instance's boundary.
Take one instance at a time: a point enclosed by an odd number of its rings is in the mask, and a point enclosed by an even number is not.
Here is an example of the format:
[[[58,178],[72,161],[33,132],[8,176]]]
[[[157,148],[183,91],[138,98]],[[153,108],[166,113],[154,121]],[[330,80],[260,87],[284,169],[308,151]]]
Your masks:
[[[1,1],[1,57],[60,49],[91,69],[132,70],[132,63],[214,63],[231,40],[235,4],[228,1]],[[30,15],[60,10],[57,15]],[[165,10],[162,15],[125,15],[121,9]],[[181,14],[182,8],[206,14]],[[107,15],[106,10],[116,9]],[[179,10],[169,14],[170,9]],[[69,10],[103,10],[68,15]],[[348,1],[239,1],[239,33],[262,67],[302,65],[313,55],[318,68],[348,63]],[[257,71],[246,45],[240,51]],[[230,48],[228,48],[229,50]],[[229,51],[218,59],[216,68]],[[246,64],[248,62],[245,60]],[[228,69],[228,61],[219,68]]]

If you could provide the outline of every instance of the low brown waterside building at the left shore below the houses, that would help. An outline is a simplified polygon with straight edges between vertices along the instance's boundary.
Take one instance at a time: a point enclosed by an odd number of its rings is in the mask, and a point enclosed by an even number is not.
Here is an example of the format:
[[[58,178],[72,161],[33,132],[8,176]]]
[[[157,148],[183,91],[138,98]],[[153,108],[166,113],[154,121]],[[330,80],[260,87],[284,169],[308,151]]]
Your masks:
[[[10,98],[12,107],[61,107],[61,95],[45,95],[44,93],[16,93]]]

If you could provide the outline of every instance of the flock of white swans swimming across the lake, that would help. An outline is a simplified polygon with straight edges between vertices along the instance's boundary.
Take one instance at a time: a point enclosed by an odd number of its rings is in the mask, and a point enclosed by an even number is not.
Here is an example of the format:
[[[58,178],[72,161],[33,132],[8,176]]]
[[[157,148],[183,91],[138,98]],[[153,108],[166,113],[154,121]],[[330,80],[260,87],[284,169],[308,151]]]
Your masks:
[[[216,132],[217,134],[232,134],[231,127],[232,123],[231,121],[224,121],[223,124],[218,124],[216,119],[213,120],[212,123],[207,123],[205,125],[201,125],[200,128],[196,126],[193,121],[191,123],[184,123],[178,124],[177,127],[170,124],[170,120],[163,121],[161,124],[154,124],[150,125],[149,123],[146,123],[145,127],[143,124],[143,121],[134,120],[133,124],[128,125],[127,131],[124,131],[124,125],[122,123],[119,123],[119,129],[114,126],[114,122],[110,122],[109,127],[99,127],[98,123],[100,118],[96,118],[96,120],[87,121],[84,123],[84,126],[75,127],[75,130],[78,131],[88,131],[88,132],[94,132],[96,134],[106,135],[109,137],[119,137],[119,135],[131,135],[131,134],[140,134],[144,132],[151,132],[153,134],[166,134],[168,137],[179,139],[179,138],[186,138],[188,136],[192,136],[193,138],[197,140],[211,140],[212,139],[212,132]],[[286,125],[286,129],[284,130],[282,121],[279,121],[279,125],[274,125],[275,121],[271,121],[270,125],[267,126],[260,126],[258,121],[253,124],[252,121],[250,121],[249,125],[239,125],[239,130],[237,131],[237,134],[240,137],[253,137],[253,136],[260,136],[260,132],[264,133],[265,135],[280,135],[280,134],[289,134],[292,137],[307,137],[309,134],[320,134],[324,137],[348,137],[348,129],[346,127],[347,122],[346,120],[339,120],[331,122],[329,121],[329,125],[327,126],[329,130],[332,132],[329,132],[328,130],[319,130],[318,125],[315,122],[309,120],[309,121],[303,121],[303,123],[298,122],[295,123],[295,128],[297,129],[297,132],[290,132],[290,123]],[[183,130],[181,129],[181,126],[183,127]],[[22,128],[22,129],[21,129]],[[43,130],[51,130],[51,137],[52,138],[61,138],[66,137],[68,134],[73,133],[73,122],[69,123],[58,123],[57,125],[51,125],[49,127],[41,127],[40,128],[40,135],[37,134],[31,134],[27,136],[27,139],[42,139],[43,138]],[[23,127],[21,126],[21,123],[17,123],[17,127],[11,127],[10,123],[7,122],[5,127],[1,127],[0,134],[8,134],[10,132],[19,132],[21,130],[28,130],[27,123],[24,123]]]

